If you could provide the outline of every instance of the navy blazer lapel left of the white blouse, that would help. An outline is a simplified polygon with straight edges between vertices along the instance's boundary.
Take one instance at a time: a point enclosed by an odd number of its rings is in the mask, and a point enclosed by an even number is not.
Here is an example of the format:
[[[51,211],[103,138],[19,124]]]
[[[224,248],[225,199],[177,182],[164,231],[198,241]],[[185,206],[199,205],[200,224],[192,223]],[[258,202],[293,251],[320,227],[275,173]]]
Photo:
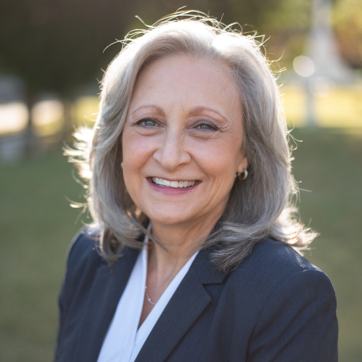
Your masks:
[[[96,362],[109,324],[125,290],[139,251],[125,249],[122,260],[114,264],[113,271],[102,264],[94,277],[90,298],[84,313],[73,361]]]

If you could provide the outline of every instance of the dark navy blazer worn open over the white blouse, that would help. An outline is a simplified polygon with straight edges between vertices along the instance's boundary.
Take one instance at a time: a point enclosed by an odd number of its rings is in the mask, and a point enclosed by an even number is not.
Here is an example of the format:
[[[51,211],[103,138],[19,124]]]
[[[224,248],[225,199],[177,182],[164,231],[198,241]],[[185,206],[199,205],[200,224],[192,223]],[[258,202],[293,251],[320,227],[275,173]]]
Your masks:
[[[97,253],[97,230],[73,243],[59,297],[56,362],[96,362],[139,251],[113,270]],[[231,273],[198,253],[136,362],[334,362],[336,297],[327,275],[267,238]],[[127,313],[127,311],[125,311]]]

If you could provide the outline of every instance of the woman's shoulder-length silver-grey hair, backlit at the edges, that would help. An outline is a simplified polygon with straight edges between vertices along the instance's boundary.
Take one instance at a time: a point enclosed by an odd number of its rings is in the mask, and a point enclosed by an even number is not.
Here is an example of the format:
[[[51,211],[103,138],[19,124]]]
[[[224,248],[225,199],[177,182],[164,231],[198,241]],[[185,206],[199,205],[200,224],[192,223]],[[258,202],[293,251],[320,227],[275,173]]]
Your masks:
[[[147,64],[172,54],[223,64],[243,105],[248,177],[235,180],[222,218],[202,244],[202,248],[215,247],[212,261],[220,270],[230,271],[266,236],[298,250],[315,237],[295,219],[296,209],[290,206],[298,189],[291,174],[289,133],[263,43],[233,26],[201,12],[174,13],[147,30],[129,33],[105,72],[96,124],[92,131],[76,132],[76,150],[68,148],[66,154],[89,181],[87,205],[102,230],[100,253],[110,264],[122,256],[125,246],[140,247],[138,237],[148,233],[147,215],[127,193],[121,169],[121,134],[132,90]]]

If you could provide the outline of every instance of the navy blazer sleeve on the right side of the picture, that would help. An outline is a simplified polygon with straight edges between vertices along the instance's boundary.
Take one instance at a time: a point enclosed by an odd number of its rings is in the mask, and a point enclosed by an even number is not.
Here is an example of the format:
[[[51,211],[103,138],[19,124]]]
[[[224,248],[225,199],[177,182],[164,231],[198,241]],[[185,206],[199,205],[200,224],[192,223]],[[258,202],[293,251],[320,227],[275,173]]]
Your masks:
[[[247,362],[336,362],[338,325],[331,281],[301,270],[271,294],[249,343]]]

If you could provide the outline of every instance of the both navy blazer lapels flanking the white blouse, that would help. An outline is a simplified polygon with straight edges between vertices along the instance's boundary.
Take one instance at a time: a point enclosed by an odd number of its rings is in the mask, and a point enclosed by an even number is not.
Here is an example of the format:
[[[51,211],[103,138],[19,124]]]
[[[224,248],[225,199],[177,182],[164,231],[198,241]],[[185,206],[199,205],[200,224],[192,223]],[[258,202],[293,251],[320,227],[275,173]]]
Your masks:
[[[188,331],[190,326],[211,302],[203,285],[219,284],[225,274],[215,271],[210,262],[212,249],[199,251],[193,264],[165,307],[155,327],[145,341],[135,362],[161,362]],[[139,251],[125,249],[124,256],[113,270],[103,263],[98,267],[84,312],[83,327],[77,341],[73,361],[96,362],[104,337],[126,287]],[[162,348],[155,345],[163,341]],[[152,351],[152,353],[150,352]]]

